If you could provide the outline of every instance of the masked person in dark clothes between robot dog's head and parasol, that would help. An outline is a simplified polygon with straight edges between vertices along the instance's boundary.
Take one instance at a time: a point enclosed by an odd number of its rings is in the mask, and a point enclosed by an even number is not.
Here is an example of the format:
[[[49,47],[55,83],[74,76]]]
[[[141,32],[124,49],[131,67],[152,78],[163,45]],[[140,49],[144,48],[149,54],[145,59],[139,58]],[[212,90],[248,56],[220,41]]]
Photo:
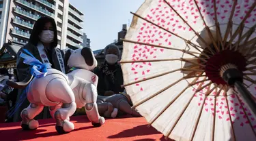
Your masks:
[[[121,87],[124,83],[122,68],[117,63],[120,55],[117,45],[111,43],[105,47],[105,60],[94,70],[94,73],[98,75],[98,95],[111,96],[124,92],[124,88]]]

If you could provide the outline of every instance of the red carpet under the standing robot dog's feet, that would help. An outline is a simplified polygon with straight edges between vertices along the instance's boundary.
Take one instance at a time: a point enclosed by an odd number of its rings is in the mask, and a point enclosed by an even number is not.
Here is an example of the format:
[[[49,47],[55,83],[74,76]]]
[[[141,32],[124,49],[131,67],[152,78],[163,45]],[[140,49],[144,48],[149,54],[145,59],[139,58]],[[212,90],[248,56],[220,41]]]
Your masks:
[[[46,140],[46,141],[154,141],[165,140],[165,138],[153,127],[147,127],[147,122],[140,118],[106,119],[102,127],[93,127],[87,117],[76,116],[70,120],[74,123],[75,129],[69,134],[59,135],[55,131],[53,119],[39,120],[40,127],[33,131],[23,131],[20,123],[1,123],[0,140]]]

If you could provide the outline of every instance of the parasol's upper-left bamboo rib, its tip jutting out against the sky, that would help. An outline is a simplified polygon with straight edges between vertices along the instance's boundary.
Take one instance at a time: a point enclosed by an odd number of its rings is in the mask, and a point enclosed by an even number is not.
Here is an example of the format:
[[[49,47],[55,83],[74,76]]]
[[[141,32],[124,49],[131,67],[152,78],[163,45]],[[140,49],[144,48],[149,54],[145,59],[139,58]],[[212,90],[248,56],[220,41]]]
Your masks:
[[[137,17],[141,18],[142,20],[145,20],[146,22],[149,22],[150,24],[154,24],[154,26],[158,26],[158,25],[155,24],[154,22],[151,22],[150,20],[147,20],[147,19],[145,19],[145,18],[139,16],[138,14],[135,14],[135,13],[132,13],[132,12],[130,12],[130,13],[133,14],[134,16],[137,16]],[[171,32],[171,31],[168,31],[167,29],[163,28],[162,26],[158,26],[158,28],[161,28],[162,30],[166,31],[167,33],[170,33],[171,35],[174,35],[175,37],[178,37],[178,38],[184,40],[186,43],[192,44],[192,46],[193,46],[195,49],[197,49],[199,52],[201,52],[201,50],[197,48],[197,47],[200,47],[200,46],[195,45],[195,43],[192,43],[191,41],[189,41],[189,40],[187,40],[187,39],[185,39],[185,38],[183,38],[183,37],[181,37],[181,36],[179,36],[179,35],[177,35],[177,34]],[[200,48],[203,49],[202,47],[200,47]]]

